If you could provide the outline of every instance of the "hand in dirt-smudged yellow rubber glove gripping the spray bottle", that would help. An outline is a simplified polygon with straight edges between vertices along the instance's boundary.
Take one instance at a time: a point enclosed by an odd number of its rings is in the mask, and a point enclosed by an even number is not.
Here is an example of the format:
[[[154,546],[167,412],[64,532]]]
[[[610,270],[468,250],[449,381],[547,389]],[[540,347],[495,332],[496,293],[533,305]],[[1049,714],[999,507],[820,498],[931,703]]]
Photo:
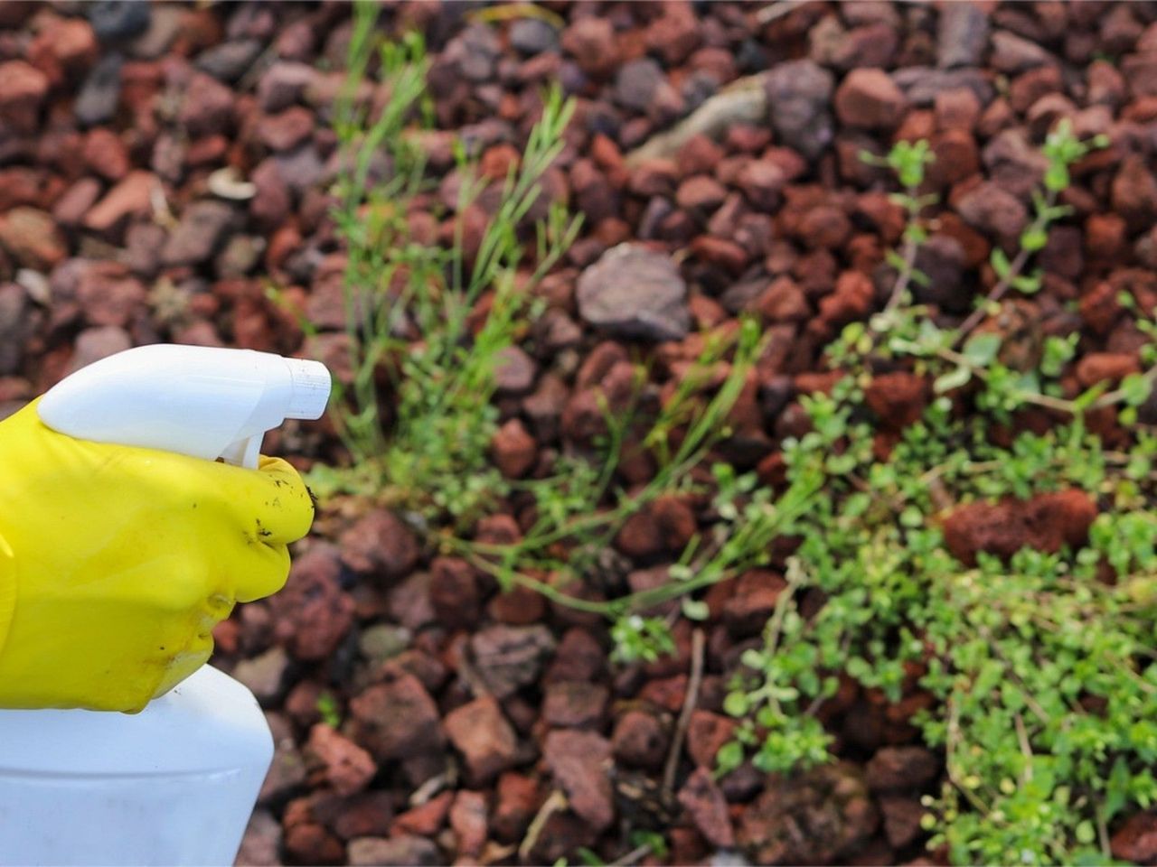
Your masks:
[[[283,460],[243,469],[0,422],[0,707],[135,712],[275,593],[314,507]]]

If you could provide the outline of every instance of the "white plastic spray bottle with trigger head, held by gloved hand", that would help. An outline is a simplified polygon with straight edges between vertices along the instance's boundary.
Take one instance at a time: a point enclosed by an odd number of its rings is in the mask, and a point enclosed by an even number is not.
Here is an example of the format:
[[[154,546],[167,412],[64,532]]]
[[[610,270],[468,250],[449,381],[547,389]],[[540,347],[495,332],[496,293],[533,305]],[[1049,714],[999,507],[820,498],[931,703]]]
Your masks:
[[[317,362],[159,344],[82,368],[38,409],[68,436],[256,467],[265,431],[329,397]],[[252,692],[209,666],[134,716],[0,711],[0,865],[231,865],[272,757]]]

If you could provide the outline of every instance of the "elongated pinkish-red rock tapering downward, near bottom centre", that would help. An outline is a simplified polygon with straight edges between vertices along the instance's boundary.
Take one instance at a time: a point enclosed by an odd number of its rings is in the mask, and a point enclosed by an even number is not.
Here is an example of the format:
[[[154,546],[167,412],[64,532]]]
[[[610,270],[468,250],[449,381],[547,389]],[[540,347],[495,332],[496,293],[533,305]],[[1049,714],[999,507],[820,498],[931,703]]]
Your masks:
[[[611,764],[610,742],[594,732],[559,729],[546,735],[543,755],[570,809],[597,833],[610,828],[614,821],[614,801],[606,775]]]

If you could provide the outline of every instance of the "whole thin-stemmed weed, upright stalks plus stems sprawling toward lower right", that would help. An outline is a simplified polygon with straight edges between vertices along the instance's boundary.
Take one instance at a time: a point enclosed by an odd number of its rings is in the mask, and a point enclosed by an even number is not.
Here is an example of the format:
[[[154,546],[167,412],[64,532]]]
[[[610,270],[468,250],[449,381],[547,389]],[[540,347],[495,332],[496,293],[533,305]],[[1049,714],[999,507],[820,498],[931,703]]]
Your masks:
[[[557,91],[547,95],[476,253],[464,249],[462,217],[485,184],[460,148],[452,239],[418,243],[408,212],[429,185],[413,134],[422,117],[426,59],[414,37],[377,50],[391,98],[373,118],[355,97],[376,50],[375,18],[373,7],[356,7],[349,73],[336,114],[342,165],[336,223],[348,250],[346,338],[353,371],[336,406],[353,466],[318,468],[311,484],[326,494],[376,494],[419,517],[433,546],[466,556],[502,587],[530,587],[560,605],[607,616],[620,661],[671,652],[670,623],[640,613],[683,598],[686,616],[705,616],[692,594],[766,562],[780,524],[803,507],[802,501],[773,504],[758,492],[746,498],[742,513],[721,503],[723,519],[710,534],[692,540],[672,565],[671,580],[659,587],[607,600],[589,600],[569,588],[598,570],[604,551],[639,510],[695,489],[693,474],[729,435],[727,416],[764,349],[759,327],[745,321],[738,329],[705,334],[699,358],[657,413],[643,413],[638,398],[614,412],[604,406],[607,432],[595,454],[563,454],[546,479],[503,479],[488,460],[498,420],[494,371],[537,312],[533,287],[578,230],[578,221],[554,206],[535,222],[533,255],[525,255],[524,228],[540,197],[539,181],[561,150],[573,106]],[[713,390],[721,371],[722,383]],[[640,370],[640,388],[646,379]],[[384,412],[386,383],[392,420]],[[654,479],[629,496],[616,488],[628,435],[632,447],[649,452],[657,467]],[[509,496],[529,497],[535,505],[537,517],[523,539],[511,544],[470,539],[474,521]]]

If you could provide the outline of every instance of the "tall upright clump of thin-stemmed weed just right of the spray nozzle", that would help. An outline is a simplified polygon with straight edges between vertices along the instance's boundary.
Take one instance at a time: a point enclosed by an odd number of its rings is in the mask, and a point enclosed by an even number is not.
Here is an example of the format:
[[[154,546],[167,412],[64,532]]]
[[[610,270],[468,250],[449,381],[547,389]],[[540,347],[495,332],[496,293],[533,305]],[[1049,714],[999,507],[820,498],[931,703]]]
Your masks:
[[[341,388],[339,429],[359,465],[348,480],[385,486],[415,512],[469,524],[506,490],[487,452],[496,430],[491,405],[495,370],[532,306],[532,291],[577,236],[580,221],[553,203],[540,220],[531,208],[540,180],[562,149],[573,112],[558,90],[544,101],[522,158],[499,185],[498,203],[477,251],[463,242],[464,215],[487,184],[472,157],[457,149],[459,193],[448,244],[419,243],[411,208],[429,187],[414,134],[426,92],[426,57],[418,37],[377,50],[390,94],[373,118],[354,96],[375,52],[377,8],[355,7],[346,88],[336,128],[342,171],[337,181],[338,231],[347,250],[346,336],[353,383]],[[526,225],[533,234],[528,267]],[[480,325],[471,327],[485,304]],[[414,342],[413,334],[420,335]],[[383,376],[392,385],[395,416],[386,431]]]

